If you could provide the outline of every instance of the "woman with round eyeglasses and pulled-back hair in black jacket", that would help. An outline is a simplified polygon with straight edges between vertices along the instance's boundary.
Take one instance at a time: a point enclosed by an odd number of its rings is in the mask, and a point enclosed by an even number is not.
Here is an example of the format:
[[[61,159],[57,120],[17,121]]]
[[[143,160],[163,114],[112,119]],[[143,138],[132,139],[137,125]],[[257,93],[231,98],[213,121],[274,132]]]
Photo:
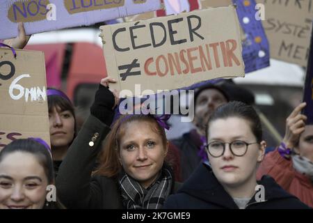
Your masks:
[[[207,123],[207,164],[186,180],[165,208],[308,208],[269,176],[257,181],[257,167],[266,142],[251,106],[229,102],[216,109]]]

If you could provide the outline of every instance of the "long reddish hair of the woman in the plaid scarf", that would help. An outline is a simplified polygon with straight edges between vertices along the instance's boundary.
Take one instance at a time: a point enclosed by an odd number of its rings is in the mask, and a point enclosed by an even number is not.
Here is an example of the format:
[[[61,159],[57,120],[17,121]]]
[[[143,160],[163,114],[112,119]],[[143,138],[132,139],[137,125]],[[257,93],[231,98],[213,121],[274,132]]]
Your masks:
[[[125,133],[126,124],[134,121],[152,123],[154,125],[154,132],[157,132],[161,136],[163,146],[166,146],[168,141],[166,139],[166,132],[152,115],[135,114],[120,116],[112,126],[111,132],[106,136],[106,139],[104,139],[102,152],[99,153],[98,157],[99,167],[93,175],[107,177],[115,177],[118,175],[122,169],[118,155],[120,152],[120,139]]]

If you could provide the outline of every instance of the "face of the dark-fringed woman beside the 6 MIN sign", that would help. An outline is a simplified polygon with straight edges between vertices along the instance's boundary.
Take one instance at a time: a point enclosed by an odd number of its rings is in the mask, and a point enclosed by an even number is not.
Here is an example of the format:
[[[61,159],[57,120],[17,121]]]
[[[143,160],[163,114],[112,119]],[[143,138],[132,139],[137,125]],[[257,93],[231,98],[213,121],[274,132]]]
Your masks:
[[[69,110],[53,107],[49,112],[51,147],[68,146],[74,138],[75,120]]]

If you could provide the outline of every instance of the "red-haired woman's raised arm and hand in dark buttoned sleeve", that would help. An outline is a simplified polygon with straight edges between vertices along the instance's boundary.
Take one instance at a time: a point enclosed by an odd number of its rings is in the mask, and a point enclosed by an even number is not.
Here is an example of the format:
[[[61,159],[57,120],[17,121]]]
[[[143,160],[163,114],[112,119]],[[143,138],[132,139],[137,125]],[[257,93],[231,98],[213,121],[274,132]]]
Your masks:
[[[91,172],[102,148],[102,140],[109,133],[113,108],[118,98],[106,88],[109,77],[102,79],[90,108],[91,115],[67,151],[56,178],[59,199],[67,208],[101,208],[102,188],[93,180]],[[115,94],[116,95],[116,94]]]

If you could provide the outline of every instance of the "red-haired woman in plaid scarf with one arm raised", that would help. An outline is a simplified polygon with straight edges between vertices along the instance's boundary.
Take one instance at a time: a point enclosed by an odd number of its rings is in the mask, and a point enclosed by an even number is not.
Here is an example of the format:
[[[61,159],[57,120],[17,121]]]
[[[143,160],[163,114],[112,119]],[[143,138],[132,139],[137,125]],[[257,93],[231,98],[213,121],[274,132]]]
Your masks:
[[[102,79],[91,116],[61,164],[58,195],[67,208],[161,208],[179,186],[164,162],[166,117],[129,114],[110,129],[118,93],[106,88],[109,82],[115,80]],[[91,176],[97,155],[99,169]]]

